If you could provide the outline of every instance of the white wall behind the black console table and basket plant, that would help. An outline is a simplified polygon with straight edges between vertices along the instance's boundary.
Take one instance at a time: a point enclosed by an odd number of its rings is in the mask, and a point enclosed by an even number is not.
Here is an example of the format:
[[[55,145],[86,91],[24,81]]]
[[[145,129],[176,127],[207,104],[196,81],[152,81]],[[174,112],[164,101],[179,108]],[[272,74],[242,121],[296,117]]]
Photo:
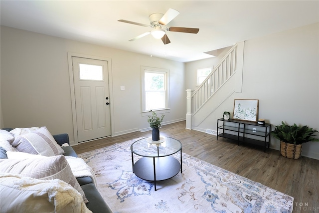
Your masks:
[[[210,60],[186,64],[187,89],[193,89],[195,68]],[[235,98],[259,99],[259,118],[273,125],[285,121],[319,131],[319,23],[245,41],[242,93],[234,93],[201,128],[216,130]],[[279,145],[272,138],[271,147]],[[304,144],[302,155],[319,159],[319,143]]]

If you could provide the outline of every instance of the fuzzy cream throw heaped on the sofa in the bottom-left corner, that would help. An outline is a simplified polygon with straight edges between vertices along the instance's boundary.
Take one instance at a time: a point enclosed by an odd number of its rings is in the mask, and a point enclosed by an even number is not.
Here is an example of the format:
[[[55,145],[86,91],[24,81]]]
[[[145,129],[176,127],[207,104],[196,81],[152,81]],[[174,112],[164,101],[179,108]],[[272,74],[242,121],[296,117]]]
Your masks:
[[[0,174],[3,213],[92,213],[81,195],[65,182]]]

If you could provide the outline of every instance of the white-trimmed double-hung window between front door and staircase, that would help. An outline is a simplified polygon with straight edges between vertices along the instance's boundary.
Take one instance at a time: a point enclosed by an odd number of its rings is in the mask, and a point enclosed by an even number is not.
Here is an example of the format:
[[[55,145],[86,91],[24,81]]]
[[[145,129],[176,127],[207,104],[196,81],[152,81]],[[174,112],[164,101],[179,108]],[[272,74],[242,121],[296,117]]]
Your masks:
[[[168,70],[142,67],[142,111],[168,108]]]

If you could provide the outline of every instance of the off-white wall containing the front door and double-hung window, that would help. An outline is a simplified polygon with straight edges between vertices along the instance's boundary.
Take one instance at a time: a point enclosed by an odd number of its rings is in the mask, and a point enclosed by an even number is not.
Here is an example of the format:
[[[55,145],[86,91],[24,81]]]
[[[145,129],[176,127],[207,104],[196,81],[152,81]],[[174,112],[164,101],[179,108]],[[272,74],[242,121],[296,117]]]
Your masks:
[[[185,120],[184,63],[5,26],[0,32],[4,127],[47,126],[74,140],[67,52],[111,58],[112,135],[149,127],[141,115],[141,66],[169,69],[171,109],[163,124]]]

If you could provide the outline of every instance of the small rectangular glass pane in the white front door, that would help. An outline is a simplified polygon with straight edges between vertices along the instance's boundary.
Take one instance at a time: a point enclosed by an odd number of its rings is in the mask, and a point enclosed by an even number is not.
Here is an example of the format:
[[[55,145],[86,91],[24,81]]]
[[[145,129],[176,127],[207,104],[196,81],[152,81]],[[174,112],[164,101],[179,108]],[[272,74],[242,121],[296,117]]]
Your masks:
[[[80,80],[103,80],[103,67],[91,64],[80,64]]]

